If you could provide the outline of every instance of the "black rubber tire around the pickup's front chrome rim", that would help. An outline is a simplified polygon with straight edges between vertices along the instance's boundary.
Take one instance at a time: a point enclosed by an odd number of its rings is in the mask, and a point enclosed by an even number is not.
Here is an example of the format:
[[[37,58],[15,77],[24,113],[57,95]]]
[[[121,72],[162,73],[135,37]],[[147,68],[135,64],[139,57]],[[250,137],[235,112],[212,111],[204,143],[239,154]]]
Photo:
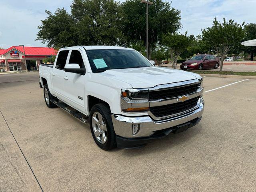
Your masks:
[[[96,138],[96,136],[94,134],[92,118],[93,118],[94,114],[97,114],[97,113],[100,113],[102,115],[102,119],[103,119],[104,124],[106,125],[106,129],[107,129],[106,130],[106,133],[107,133],[106,141],[104,143],[101,143]],[[96,144],[103,150],[110,150],[112,148],[115,148],[116,147],[116,134],[114,131],[114,126],[113,126],[109,106],[104,103],[99,103],[99,104],[94,105],[90,111],[89,120],[90,120],[90,129],[92,132],[92,137],[93,137],[94,141],[96,142]],[[100,133],[100,135],[102,136],[102,133]]]

